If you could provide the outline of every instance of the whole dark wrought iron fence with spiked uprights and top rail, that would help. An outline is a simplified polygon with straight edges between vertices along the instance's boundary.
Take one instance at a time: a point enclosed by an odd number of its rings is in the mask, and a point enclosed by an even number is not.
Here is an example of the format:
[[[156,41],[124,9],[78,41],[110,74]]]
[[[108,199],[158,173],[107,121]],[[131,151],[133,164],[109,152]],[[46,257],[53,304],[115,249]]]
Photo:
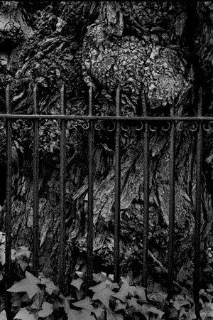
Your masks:
[[[146,286],[147,259],[148,259],[148,223],[149,223],[149,129],[153,122],[168,123],[170,143],[170,196],[169,196],[169,241],[168,241],[168,292],[173,292],[174,279],[174,220],[175,220],[175,128],[180,122],[195,123],[197,134],[197,156],[196,156],[196,213],[195,213],[195,260],[194,260],[194,294],[195,304],[198,306],[200,289],[200,225],[201,225],[201,183],[202,183],[202,136],[204,122],[212,122],[213,117],[202,117],[202,89],[199,91],[197,115],[195,117],[175,116],[174,105],[170,107],[168,117],[150,117],[146,110],[145,98],[142,94],[142,116],[121,116],[120,110],[120,88],[116,90],[116,112],[114,116],[97,116],[93,114],[92,87],[89,88],[89,114],[67,115],[65,103],[65,85],[60,90],[60,114],[46,115],[38,113],[38,90],[35,85],[33,89],[33,114],[11,114],[11,89],[6,88],[6,113],[0,114],[0,119],[6,122],[6,287],[11,285],[11,178],[12,178],[12,156],[11,156],[11,123],[15,119],[29,119],[33,122],[33,273],[38,275],[39,255],[39,215],[38,215],[38,164],[39,164],[39,122],[42,119],[58,119],[60,122],[60,287],[65,282],[65,166],[66,166],[66,122],[69,120],[84,120],[88,124],[88,215],[87,215],[87,281],[92,283],[93,272],[93,189],[94,189],[94,126],[99,120],[111,121],[115,124],[115,198],[114,198],[114,281],[119,281],[119,228],[120,228],[120,203],[121,203],[121,124],[129,122],[132,126],[140,122],[143,130],[143,175],[144,175],[144,203],[143,203],[143,285]]]

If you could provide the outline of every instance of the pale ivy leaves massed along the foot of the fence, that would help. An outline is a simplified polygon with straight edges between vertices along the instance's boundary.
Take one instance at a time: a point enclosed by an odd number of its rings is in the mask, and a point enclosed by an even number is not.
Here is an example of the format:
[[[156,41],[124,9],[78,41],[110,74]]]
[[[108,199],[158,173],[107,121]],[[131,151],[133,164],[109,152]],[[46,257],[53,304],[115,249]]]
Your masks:
[[[50,278],[35,277],[27,271],[31,267],[31,251],[27,246],[11,250],[11,260],[21,267],[25,277],[8,289],[11,292],[13,319],[20,320],[159,320],[197,319],[192,294],[182,288],[180,294],[168,301],[168,294],[160,284],[152,291],[134,283],[130,277],[114,282],[113,275],[93,274],[94,285],[86,286],[84,272],[77,271],[72,279],[70,295],[65,296]],[[0,232],[1,281],[4,279],[5,233]],[[7,320],[5,294],[0,296],[0,319]],[[213,319],[213,286],[200,291],[200,317]]]

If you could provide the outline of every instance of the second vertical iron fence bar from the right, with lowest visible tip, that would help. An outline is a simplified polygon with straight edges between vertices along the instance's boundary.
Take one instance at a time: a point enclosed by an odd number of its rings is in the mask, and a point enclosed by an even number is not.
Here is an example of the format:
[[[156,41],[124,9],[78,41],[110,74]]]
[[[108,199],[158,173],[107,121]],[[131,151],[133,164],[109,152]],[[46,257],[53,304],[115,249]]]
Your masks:
[[[170,107],[174,117],[175,106]],[[173,294],[174,277],[174,228],[175,228],[175,122],[170,128],[170,198],[169,198],[169,243],[168,243],[168,297]]]

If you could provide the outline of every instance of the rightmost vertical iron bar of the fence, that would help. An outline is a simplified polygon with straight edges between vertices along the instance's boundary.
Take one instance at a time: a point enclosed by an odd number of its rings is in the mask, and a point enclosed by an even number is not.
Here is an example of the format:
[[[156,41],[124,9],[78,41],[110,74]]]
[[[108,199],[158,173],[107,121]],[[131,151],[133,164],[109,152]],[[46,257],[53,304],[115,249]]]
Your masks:
[[[202,87],[198,92],[198,117],[202,116]],[[202,122],[198,124],[196,154],[196,191],[195,191],[195,260],[194,260],[194,299],[195,309],[199,314],[200,290],[200,215],[201,215],[201,183],[202,183]]]

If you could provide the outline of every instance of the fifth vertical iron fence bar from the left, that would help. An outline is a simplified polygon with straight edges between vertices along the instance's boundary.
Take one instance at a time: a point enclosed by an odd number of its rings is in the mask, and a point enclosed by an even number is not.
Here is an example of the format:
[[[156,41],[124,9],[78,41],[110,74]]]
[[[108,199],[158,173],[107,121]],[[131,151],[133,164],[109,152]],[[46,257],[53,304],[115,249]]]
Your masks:
[[[116,116],[120,115],[120,86],[116,90]],[[121,123],[116,122],[115,138],[115,206],[114,206],[114,281],[119,282],[120,272],[120,207],[121,207]]]

